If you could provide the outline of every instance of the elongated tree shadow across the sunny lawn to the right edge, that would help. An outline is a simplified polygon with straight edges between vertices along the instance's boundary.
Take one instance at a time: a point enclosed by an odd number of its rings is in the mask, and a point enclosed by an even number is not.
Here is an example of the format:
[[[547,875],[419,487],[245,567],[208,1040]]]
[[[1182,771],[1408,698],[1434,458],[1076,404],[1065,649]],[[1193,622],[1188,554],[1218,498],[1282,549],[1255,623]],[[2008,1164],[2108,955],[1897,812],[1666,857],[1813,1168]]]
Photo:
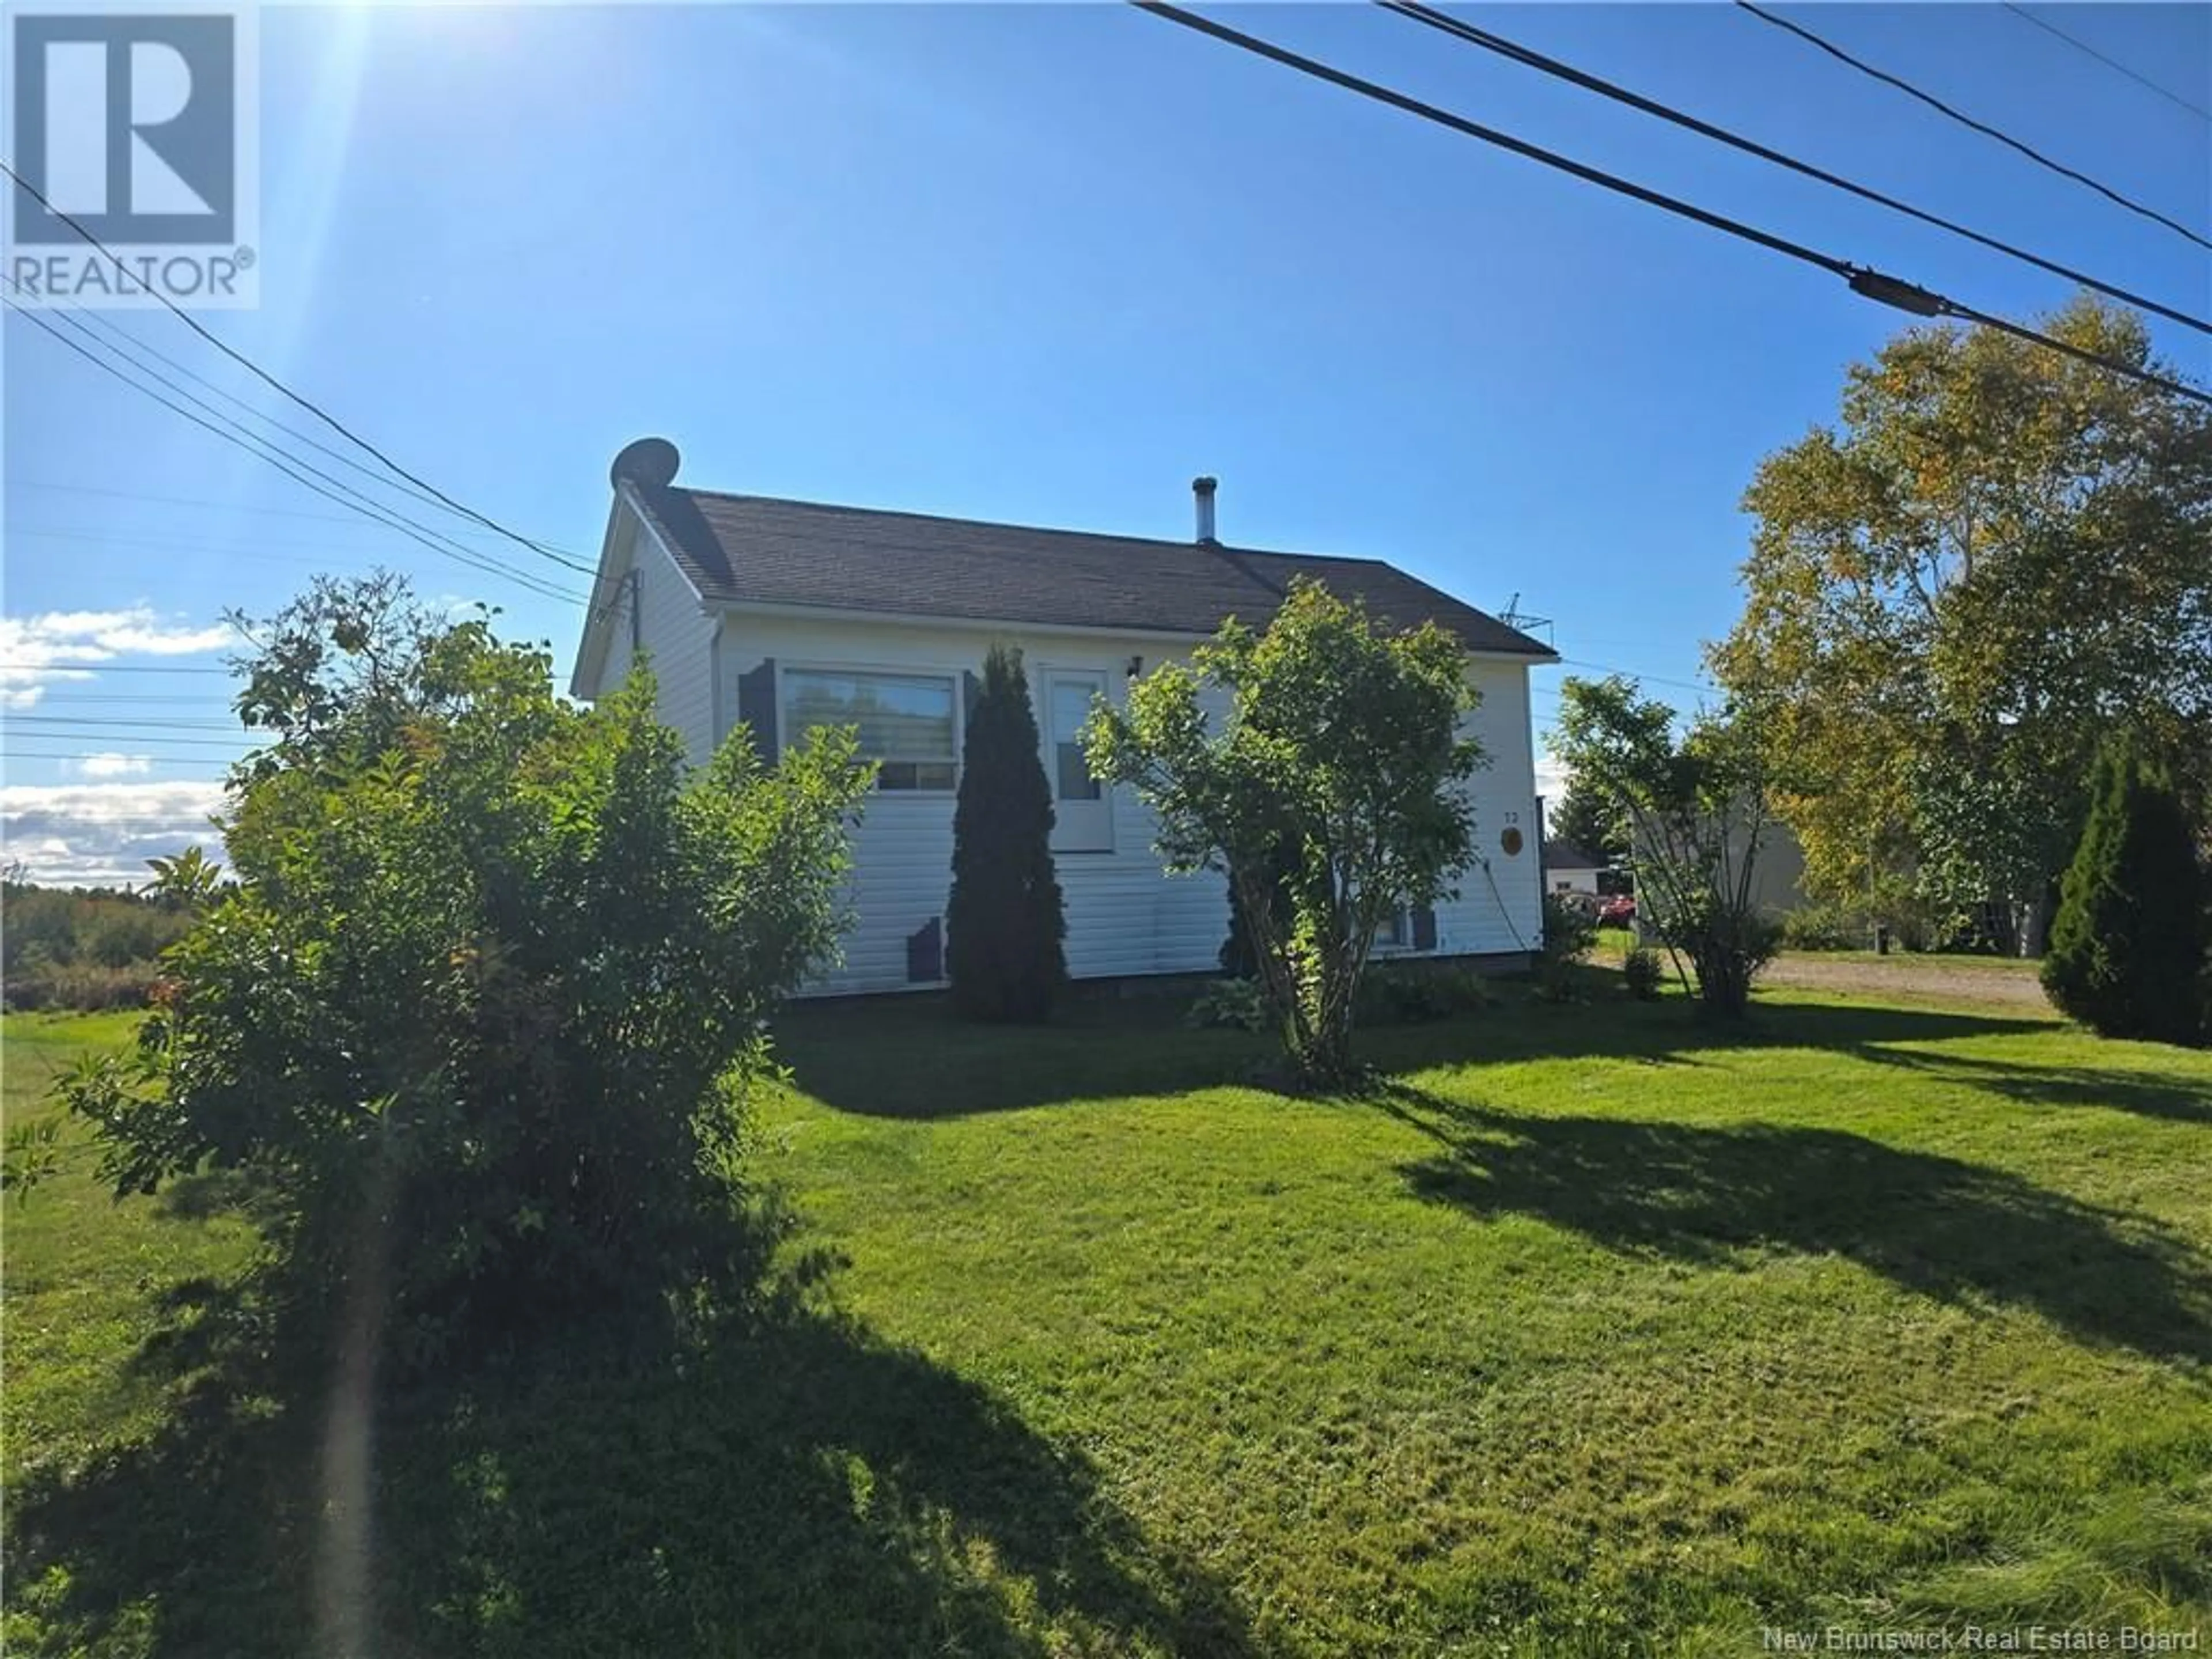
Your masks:
[[[1829,1128],[1522,1117],[1407,1086],[1376,1099],[1440,1148],[1402,1166],[1411,1188],[1475,1217],[1681,1261],[1838,1254],[1924,1296],[2033,1307],[2081,1340],[2212,1358],[2212,1261],[2015,1175]]]

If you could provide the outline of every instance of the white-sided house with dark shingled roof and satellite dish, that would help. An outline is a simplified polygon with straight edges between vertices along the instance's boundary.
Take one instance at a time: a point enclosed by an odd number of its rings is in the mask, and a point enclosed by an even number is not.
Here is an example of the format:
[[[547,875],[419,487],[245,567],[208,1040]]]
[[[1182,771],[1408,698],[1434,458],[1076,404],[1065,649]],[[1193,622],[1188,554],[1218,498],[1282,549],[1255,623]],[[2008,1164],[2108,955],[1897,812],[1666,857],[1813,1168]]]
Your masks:
[[[854,843],[843,962],[816,993],[942,984],[953,799],[969,699],[993,641],[1022,648],[1053,783],[1073,978],[1206,973],[1228,931],[1217,874],[1168,876],[1152,814],[1088,774],[1075,732],[1095,695],[1237,615],[1263,626],[1294,575],[1360,597],[1385,622],[1467,641],[1482,860],[1460,896],[1405,914],[1378,953],[1526,960],[1542,872],[1528,668],[1548,646],[1376,560],[1259,553],[1214,540],[1214,480],[1192,542],[982,524],[920,513],[723,495],[675,482],[675,445],[615,458],[615,500],[571,692],[595,699],[650,653],[661,719],[692,761],[743,721],[768,754],[814,723],[860,728],[883,763]]]

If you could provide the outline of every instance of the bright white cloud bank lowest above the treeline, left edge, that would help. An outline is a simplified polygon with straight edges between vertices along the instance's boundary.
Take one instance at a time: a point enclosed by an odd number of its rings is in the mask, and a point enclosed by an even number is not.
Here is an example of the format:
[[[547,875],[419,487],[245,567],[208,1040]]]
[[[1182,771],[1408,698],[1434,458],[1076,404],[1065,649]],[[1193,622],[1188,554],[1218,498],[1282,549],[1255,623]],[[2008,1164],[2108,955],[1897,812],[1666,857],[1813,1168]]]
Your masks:
[[[153,874],[148,858],[192,845],[219,856],[223,841],[208,816],[221,801],[217,779],[9,783],[0,787],[0,856],[55,887],[135,887]]]

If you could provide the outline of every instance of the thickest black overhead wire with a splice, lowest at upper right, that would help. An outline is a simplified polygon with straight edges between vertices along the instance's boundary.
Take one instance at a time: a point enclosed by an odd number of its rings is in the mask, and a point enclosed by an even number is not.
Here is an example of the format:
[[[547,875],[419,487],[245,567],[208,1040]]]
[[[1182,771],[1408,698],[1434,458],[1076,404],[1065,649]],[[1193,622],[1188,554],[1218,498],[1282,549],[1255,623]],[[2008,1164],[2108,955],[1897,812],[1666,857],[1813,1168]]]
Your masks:
[[[1898,310],[1911,312],[1913,316],[1955,316],[1969,323],[1989,323],[1991,327],[2000,327],[2006,334],[2017,334],[2024,341],[2048,345],[2055,352],[2077,356],[2084,363],[2095,363],[2097,367],[2108,369],[2112,374],[2121,374],[2130,380],[2154,385],[2161,392],[2174,394],[2177,398],[2188,398],[2192,403],[2203,403],[2212,407],[2212,392],[2201,392],[2199,387],[2185,385],[2152,369],[2141,369],[2132,363],[2121,363],[2119,358],[2084,352],[2077,345],[2053,341],[2051,336],[2020,327],[2017,323],[2000,323],[1997,319],[1978,312],[1969,305],[1960,305],[1958,301],[1944,299],[1933,290],[1907,283],[1898,276],[1887,276],[1867,265],[1854,265],[1851,261],[1838,259],[1836,254],[1825,254],[1818,248],[1807,248],[1805,243],[1776,237],[1767,230],[1759,230],[1756,226],[1747,226],[1741,219],[1730,219],[1725,215],[1710,212],[1708,208],[1699,208],[1679,197],[1661,195],[1659,190],[1632,184],[1628,179],[1621,179],[1619,175],[1601,173],[1599,168],[1573,161],[1559,155],[1557,150],[1546,150],[1540,144],[1528,144],[1526,139],[1517,139],[1511,133],[1500,133],[1493,126],[1482,126],[1480,122],[1471,122],[1464,115],[1453,115],[1451,111],[1438,108],[1436,104],[1425,104],[1418,97],[1409,97],[1407,93],[1394,91],[1378,82],[1363,80],[1332,64],[1323,64],[1316,58],[1305,58],[1301,53],[1290,51],[1287,46],[1276,46],[1270,40],[1261,40],[1239,29],[1230,29],[1228,24],[1214,22],[1212,18],[1201,18],[1194,11],[1183,11],[1177,4],[1168,4],[1168,0],[1130,0],[1130,4],[1137,7],[1139,11],[1150,11],[1155,18],[1181,24],[1183,29],[1194,29],[1201,35],[1212,35],[1214,40],[1237,46],[1239,51],[1267,58],[1276,64],[1283,64],[1285,69],[1296,69],[1301,75],[1325,80],[1332,86],[1343,86],[1345,91],[1371,97],[1378,104],[1389,104],[1391,108],[1400,108],[1407,115],[1418,115],[1425,122],[1449,126],[1453,133],[1482,139],[1484,144],[1495,144],[1498,148],[1513,150],[1515,155],[1524,155],[1531,161],[1542,161],[1544,166],[1557,168],[1559,173],[1568,173],[1582,179],[1584,184],[1595,184],[1604,190],[1613,190],[1615,195],[1632,197],[1635,201],[1663,208],[1666,212],[1672,212],[1681,219],[1690,219],[1712,230],[1723,230],[1730,237],[1739,237],[1761,248],[1770,248],[1772,252],[1787,254],[1790,259],[1803,261],[1807,265],[1818,265],[1820,270],[1834,276],[1843,276],[1851,285],[1851,292],[1860,294],[1863,299],[1874,299],[1880,301],[1882,305],[1893,305]],[[1743,4],[1743,0],[1739,0],[1739,4]]]

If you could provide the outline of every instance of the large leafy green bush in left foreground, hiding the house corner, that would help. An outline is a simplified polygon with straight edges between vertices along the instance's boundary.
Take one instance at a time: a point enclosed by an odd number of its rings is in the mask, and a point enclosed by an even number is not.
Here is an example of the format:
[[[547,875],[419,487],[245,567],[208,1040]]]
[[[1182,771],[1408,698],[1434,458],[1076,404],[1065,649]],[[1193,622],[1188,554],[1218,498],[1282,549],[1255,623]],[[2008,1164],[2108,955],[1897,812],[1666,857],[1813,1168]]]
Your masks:
[[[852,732],[688,772],[646,675],[575,710],[542,653],[374,584],[254,637],[276,743],[234,776],[239,885],[135,1055],[62,1084],[102,1175],[241,1170],[285,1305],[380,1314],[425,1365],[741,1296],[743,1106],[836,945]]]

